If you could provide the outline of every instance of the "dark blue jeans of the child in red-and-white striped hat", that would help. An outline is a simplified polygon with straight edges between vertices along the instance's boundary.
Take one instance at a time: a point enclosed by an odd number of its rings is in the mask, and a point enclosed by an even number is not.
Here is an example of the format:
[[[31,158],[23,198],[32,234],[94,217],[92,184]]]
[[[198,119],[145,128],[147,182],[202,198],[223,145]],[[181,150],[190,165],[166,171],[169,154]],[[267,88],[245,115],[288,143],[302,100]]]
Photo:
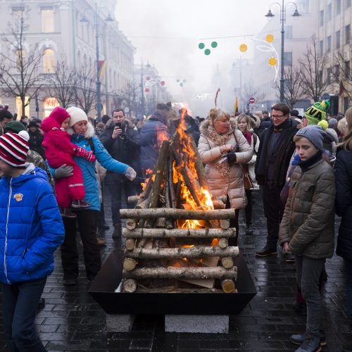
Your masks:
[[[16,284],[3,284],[4,335],[11,352],[44,352],[34,319],[46,277]]]

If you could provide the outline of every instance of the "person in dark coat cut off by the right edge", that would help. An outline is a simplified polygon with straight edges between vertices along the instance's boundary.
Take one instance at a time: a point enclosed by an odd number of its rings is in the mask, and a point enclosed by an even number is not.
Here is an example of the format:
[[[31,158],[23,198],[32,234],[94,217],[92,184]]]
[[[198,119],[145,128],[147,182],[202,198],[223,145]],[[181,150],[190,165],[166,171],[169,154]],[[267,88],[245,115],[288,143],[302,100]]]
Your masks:
[[[346,111],[346,121],[348,132],[337,149],[335,162],[336,213],[341,216],[336,253],[344,258],[348,319],[352,329],[352,108]],[[343,351],[352,351],[351,339],[344,341]]]

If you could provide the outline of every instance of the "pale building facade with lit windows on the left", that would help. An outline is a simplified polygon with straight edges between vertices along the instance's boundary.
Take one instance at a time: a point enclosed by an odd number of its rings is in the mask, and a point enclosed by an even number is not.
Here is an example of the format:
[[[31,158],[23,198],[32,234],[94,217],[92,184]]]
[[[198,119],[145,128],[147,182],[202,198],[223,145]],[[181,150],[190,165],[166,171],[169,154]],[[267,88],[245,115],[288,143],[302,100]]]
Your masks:
[[[11,29],[23,13],[27,26],[23,54],[33,49],[43,54],[35,72],[41,75],[42,86],[37,99],[32,99],[25,109],[25,115],[44,118],[58,105],[56,97],[51,95],[49,81],[58,63],[62,62],[73,72],[84,70],[89,74],[92,86],[89,89],[95,90],[98,58],[101,113],[111,113],[122,103],[124,91],[133,80],[134,47],[113,19],[115,5],[116,0],[104,1],[106,7],[96,6],[92,0],[0,1],[1,16],[8,20],[0,22],[1,52],[13,60],[18,55],[16,45],[6,45],[6,39],[11,41]],[[0,87],[0,102],[7,103],[10,111],[21,115],[18,97],[5,96],[1,89],[4,87]],[[80,105],[80,99],[76,103]],[[95,107],[94,101],[89,112],[92,117],[96,113]]]

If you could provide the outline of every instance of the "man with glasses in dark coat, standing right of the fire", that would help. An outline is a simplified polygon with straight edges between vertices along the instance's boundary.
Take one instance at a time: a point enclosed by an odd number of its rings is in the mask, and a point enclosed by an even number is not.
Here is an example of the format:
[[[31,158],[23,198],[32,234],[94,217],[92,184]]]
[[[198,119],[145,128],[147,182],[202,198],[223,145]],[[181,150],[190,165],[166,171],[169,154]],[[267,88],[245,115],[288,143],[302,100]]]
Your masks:
[[[256,256],[277,253],[279,224],[284,213],[280,192],[286,182],[287,169],[294,153],[294,135],[301,125],[289,118],[289,106],[277,103],[272,106],[272,125],[265,130],[256,161],[256,180],[263,190],[264,215],[267,219],[268,237]]]

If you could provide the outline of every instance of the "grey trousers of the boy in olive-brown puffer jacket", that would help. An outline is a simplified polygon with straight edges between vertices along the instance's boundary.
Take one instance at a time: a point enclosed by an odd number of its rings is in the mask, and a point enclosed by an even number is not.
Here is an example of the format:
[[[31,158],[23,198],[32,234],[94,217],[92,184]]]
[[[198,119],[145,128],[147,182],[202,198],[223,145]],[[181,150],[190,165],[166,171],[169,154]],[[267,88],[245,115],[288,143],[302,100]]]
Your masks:
[[[319,337],[322,329],[322,303],[320,300],[319,278],[324,267],[325,259],[313,259],[296,256],[296,275],[298,287],[307,303],[306,331]]]

